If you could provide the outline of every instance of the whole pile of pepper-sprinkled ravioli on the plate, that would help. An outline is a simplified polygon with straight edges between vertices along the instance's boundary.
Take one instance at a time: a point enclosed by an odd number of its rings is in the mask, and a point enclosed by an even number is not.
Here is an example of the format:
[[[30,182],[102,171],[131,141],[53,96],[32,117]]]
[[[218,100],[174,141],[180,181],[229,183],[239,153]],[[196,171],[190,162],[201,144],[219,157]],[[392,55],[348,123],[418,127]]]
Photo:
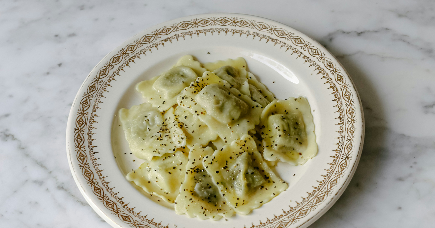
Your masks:
[[[183,56],[136,89],[147,102],[119,117],[131,152],[146,162],[127,179],[177,214],[246,215],[287,189],[271,166],[303,165],[317,153],[308,101],[277,100],[243,58]]]

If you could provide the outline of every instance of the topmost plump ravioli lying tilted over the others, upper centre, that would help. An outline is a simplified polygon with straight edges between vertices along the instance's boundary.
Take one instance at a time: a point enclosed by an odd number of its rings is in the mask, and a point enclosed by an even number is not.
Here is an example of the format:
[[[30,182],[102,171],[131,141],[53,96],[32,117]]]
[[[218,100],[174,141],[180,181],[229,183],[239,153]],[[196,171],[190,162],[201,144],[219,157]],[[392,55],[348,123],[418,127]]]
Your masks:
[[[221,139],[231,142],[259,123],[263,107],[206,71],[178,96],[177,103],[196,115]]]

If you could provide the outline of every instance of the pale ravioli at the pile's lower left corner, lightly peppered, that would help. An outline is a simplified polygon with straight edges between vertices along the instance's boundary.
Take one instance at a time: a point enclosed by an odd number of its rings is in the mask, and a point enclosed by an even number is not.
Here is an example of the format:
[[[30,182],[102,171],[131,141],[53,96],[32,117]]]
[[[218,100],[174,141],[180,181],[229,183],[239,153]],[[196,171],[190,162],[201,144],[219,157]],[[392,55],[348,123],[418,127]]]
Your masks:
[[[187,155],[184,151],[177,150],[142,163],[139,168],[127,174],[127,180],[165,202],[174,203],[184,180],[186,165]]]

